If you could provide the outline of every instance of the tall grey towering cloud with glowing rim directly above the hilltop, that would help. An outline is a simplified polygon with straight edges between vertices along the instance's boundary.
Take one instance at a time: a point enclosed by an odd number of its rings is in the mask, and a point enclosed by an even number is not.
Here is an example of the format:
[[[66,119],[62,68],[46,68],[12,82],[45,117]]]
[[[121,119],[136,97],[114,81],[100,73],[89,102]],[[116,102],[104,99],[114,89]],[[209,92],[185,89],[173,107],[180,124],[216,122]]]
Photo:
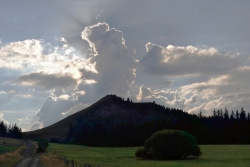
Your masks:
[[[127,48],[121,31],[110,29],[107,23],[86,27],[82,38],[88,41],[98,73],[93,76],[96,93],[115,93],[128,96],[131,84],[136,77],[137,60],[135,51]],[[84,71],[83,71],[84,76]]]

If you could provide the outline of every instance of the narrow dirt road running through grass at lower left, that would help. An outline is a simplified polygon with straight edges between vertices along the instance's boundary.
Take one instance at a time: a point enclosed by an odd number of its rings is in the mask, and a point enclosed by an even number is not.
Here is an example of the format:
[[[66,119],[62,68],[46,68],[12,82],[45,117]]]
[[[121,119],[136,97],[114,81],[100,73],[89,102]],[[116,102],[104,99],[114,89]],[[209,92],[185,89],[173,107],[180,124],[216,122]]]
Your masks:
[[[15,167],[41,167],[39,161],[39,153],[36,153],[36,147],[30,141],[24,141],[27,147],[22,154],[22,159],[15,165]]]

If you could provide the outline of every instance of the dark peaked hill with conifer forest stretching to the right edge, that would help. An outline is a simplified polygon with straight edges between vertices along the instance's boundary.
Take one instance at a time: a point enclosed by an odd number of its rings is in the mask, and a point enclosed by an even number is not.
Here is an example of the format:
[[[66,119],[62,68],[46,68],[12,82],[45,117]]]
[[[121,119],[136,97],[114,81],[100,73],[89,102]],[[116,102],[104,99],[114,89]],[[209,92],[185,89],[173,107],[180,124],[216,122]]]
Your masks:
[[[107,95],[54,125],[24,136],[89,146],[139,146],[156,131],[178,129],[196,136],[199,144],[250,144],[250,118],[243,109],[231,116],[227,110],[212,113],[205,117],[154,102],[133,103]]]

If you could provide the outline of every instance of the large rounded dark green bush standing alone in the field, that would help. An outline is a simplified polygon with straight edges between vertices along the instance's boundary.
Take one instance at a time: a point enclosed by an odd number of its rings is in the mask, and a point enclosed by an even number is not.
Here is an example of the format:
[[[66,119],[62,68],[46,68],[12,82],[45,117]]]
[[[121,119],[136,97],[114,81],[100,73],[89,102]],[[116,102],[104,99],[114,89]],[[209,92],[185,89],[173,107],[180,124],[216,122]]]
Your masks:
[[[189,156],[198,158],[201,155],[196,138],[181,130],[161,130],[148,138],[144,151],[137,150],[137,157],[143,159],[185,159]]]

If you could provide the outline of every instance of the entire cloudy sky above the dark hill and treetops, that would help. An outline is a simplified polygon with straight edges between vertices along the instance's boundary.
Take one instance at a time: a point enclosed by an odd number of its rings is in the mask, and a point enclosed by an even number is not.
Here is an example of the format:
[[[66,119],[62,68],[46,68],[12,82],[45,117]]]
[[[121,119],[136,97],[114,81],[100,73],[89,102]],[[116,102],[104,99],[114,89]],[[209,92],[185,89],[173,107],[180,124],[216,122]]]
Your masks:
[[[249,0],[0,0],[0,120],[49,126],[108,94],[250,111]]]

